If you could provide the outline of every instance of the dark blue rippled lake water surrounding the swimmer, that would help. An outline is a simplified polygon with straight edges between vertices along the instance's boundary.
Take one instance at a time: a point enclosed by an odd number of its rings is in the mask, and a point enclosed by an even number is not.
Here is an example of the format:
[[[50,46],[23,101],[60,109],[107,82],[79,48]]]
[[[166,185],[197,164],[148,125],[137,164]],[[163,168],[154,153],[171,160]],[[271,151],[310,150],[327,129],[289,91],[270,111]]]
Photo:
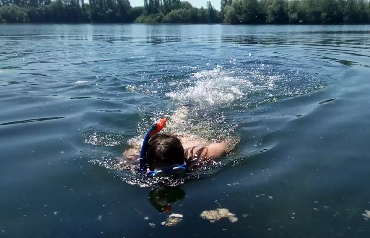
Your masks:
[[[369,25],[0,25],[0,237],[369,237],[369,67]],[[173,227],[120,164],[162,116],[235,147]]]

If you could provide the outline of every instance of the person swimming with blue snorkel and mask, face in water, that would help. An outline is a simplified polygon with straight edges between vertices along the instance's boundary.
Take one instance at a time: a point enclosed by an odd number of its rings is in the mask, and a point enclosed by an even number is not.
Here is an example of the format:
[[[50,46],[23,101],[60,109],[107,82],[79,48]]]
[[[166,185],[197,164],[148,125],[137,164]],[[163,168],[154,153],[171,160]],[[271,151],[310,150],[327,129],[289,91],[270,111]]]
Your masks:
[[[158,133],[165,122],[163,118],[149,129],[141,147],[141,155],[138,155],[138,148],[123,153],[125,159],[141,160],[143,174],[147,172],[148,175],[155,175],[158,172],[172,172],[174,169],[190,170],[201,162],[226,155],[226,143],[196,145],[186,140],[186,136]],[[181,138],[185,138],[186,143],[181,143]]]

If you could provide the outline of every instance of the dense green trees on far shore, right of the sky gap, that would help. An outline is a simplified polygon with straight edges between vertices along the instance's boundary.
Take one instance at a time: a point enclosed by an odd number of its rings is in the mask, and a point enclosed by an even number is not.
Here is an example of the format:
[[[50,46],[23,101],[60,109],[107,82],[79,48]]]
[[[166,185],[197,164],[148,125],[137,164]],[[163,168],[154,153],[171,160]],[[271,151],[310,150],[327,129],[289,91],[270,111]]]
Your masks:
[[[221,0],[230,24],[369,24],[368,0]]]

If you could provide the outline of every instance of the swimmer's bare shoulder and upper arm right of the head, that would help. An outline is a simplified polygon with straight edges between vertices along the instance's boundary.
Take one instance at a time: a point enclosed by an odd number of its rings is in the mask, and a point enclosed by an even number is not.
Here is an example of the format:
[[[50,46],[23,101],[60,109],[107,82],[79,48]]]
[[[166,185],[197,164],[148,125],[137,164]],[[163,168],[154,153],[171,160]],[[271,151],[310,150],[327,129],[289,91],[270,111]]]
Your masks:
[[[226,155],[225,143],[214,143],[208,146],[193,146],[186,148],[185,157],[188,160],[210,160],[221,158]]]

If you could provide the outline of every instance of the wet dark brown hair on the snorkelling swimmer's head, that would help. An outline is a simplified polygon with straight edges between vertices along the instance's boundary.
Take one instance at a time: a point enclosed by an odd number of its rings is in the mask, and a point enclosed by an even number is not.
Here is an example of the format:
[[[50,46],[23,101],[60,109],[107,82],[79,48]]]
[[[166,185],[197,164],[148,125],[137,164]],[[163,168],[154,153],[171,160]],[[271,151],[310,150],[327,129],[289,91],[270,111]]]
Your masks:
[[[154,134],[148,143],[148,167],[165,167],[171,164],[182,165],[185,162],[184,147],[175,135]]]

